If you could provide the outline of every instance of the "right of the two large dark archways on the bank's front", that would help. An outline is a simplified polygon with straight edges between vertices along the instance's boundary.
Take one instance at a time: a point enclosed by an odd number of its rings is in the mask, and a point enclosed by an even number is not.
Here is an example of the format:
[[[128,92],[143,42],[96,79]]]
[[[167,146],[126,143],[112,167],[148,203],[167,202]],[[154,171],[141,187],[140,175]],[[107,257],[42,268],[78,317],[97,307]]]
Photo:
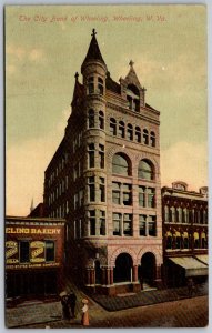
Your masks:
[[[155,279],[155,256],[151,252],[147,252],[141,258],[141,265],[139,266],[140,283],[153,285]]]

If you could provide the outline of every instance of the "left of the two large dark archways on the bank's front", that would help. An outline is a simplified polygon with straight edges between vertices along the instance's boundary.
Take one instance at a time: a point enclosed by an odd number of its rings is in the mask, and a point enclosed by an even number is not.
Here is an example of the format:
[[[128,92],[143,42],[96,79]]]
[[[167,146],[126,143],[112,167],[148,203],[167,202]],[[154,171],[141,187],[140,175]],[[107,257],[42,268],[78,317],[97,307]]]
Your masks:
[[[132,280],[132,258],[128,253],[121,253],[115,259],[115,268],[113,269],[114,283],[131,282]]]

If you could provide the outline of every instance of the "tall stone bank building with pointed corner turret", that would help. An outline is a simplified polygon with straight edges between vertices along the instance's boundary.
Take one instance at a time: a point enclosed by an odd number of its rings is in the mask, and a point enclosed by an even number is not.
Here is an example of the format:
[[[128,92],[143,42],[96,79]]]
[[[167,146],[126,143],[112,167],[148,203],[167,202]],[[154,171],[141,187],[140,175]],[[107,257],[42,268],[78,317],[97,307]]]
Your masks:
[[[94,30],[81,73],[46,170],[46,213],[67,218],[70,274],[89,289],[160,285],[160,112],[145,102],[132,61],[119,83],[111,78]]]

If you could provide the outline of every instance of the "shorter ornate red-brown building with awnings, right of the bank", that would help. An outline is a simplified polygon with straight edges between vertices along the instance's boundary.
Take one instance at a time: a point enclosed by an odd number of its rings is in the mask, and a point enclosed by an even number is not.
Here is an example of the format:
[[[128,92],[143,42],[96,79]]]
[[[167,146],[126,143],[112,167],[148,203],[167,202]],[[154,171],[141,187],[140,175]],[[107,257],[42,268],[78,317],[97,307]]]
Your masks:
[[[208,188],[188,190],[184,182],[162,188],[164,282],[183,285],[208,279]]]

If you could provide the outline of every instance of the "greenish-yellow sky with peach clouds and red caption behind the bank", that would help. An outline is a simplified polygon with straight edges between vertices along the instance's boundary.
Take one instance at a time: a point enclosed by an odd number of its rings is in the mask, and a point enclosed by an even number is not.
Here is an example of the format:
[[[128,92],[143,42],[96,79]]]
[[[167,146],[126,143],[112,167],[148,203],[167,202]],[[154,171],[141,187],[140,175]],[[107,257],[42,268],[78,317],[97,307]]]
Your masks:
[[[204,6],[10,6],[4,21],[7,214],[42,201],[93,28],[113,80],[132,59],[147,103],[161,112],[161,184],[208,185]]]

